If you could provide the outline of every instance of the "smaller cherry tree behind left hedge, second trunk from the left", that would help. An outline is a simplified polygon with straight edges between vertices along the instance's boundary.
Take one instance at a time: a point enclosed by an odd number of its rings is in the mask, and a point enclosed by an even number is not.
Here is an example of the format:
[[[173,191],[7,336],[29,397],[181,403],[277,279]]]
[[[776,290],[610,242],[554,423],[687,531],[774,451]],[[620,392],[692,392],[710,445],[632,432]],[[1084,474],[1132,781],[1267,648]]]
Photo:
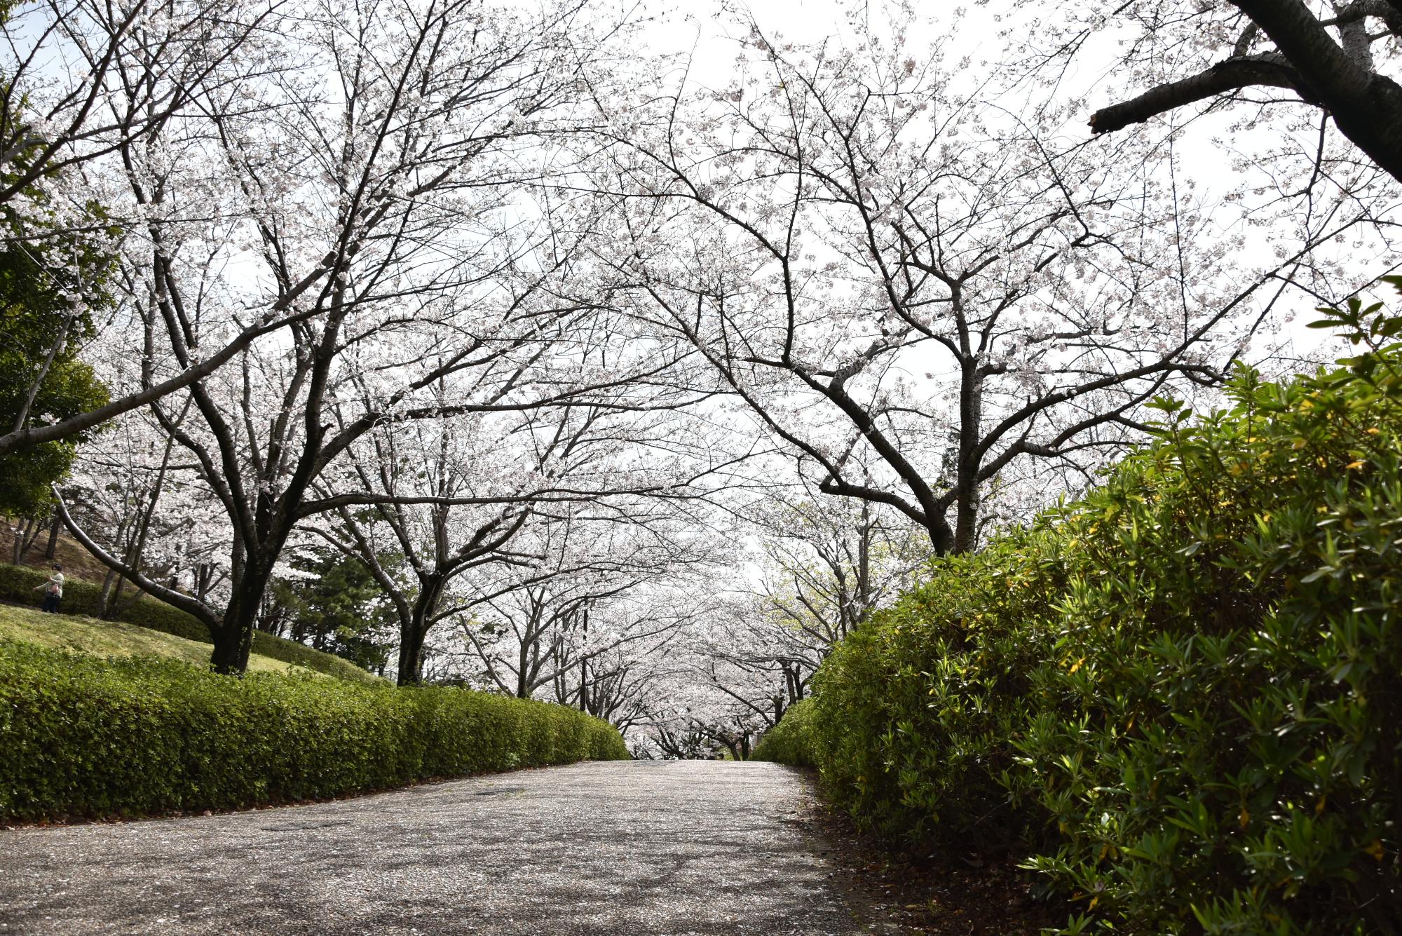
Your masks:
[[[679,409],[693,401],[653,380],[642,394],[620,388],[603,404],[390,423],[352,447],[342,472],[349,489],[374,495],[358,500],[373,503],[338,506],[335,523],[317,530],[363,562],[393,600],[400,682],[422,677],[423,645],[440,622],[503,590],[578,570],[552,552],[562,548],[550,538],[559,510],[573,520],[587,506],[596,521],[646,527],[655,509],[644,497],[705,496],[707,479],[730,460],[718,460],[686,425]],[[342,500],[328,486],[322,502]],[[545,527],[544,539],[536,527]],[[402,559],[409,574],[397,576],[383,555]],[[505,579],[477,576],[457,587],[486,565],[509,566]],[[482,581],[492,584],[474,587]]]

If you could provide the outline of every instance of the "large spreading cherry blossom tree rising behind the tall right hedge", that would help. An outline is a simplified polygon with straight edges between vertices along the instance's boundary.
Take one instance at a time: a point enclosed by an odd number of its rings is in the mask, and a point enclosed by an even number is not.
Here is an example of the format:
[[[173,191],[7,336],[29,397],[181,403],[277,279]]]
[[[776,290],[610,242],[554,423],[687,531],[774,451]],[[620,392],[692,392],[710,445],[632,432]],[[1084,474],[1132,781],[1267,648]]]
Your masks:
[[[952,552],[1037,462],[1091,472],[1152,397],[1217,383],[1283,283],[1314,287],[1312,251],[1377,217],[1338,200],[1258,262],[1248,220],[1172,153],[1068,142],[1052,90],[1014,106],[969,87],[939,48],[910,48],[911,21],[854,17],[850,41],[816,46],[742,22],[733,83],[600,95],[594,185],[617,195],[600,252],[632,311],[824,493]]]

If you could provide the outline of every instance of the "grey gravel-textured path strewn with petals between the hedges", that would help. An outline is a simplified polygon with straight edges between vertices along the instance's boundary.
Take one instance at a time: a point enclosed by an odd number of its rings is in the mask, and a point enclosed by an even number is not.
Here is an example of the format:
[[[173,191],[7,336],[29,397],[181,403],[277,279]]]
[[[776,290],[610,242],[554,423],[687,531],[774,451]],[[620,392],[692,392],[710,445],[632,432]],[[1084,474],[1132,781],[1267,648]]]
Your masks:
[[[606,762],[0,831],[0,933],[865,932],[810,801],[773,764]]]

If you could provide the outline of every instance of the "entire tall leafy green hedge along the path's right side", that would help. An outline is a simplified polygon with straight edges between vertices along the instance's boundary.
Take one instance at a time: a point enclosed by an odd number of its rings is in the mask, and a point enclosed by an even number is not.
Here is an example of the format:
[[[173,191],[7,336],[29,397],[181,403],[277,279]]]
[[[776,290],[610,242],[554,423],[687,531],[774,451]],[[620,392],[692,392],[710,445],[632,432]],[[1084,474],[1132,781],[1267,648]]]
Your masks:
[[[1025,849],[1067,933],[1395,932],[1402,355],[1230,397],[939,562],[771,750],[875,830]]]

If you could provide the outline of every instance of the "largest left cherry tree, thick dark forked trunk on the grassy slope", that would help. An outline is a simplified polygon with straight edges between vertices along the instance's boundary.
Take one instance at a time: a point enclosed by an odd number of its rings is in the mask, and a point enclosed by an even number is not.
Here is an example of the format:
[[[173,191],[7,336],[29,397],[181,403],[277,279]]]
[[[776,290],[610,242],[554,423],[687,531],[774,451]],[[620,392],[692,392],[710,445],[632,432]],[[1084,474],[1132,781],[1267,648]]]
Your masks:
[[[580,4],[540,15],[465,0],[303,14],[264,36],[268,59],[292,64],[121,149],[125,205],[143,220],[128,266],[143,388],[248,321],[293,319],[189,384],[186,425],[170,405],[150,406],[231,527],[222,607],[86,541],[203,621],[222,671],[247,664],[297,525],[384,500],[315,496],[362,436],[587,399],[638,363],[589,357],[592,300],[561,291],[587,219],[526,199],[548,156],[538,139],[573,94],[580,60],[597,53]]]

